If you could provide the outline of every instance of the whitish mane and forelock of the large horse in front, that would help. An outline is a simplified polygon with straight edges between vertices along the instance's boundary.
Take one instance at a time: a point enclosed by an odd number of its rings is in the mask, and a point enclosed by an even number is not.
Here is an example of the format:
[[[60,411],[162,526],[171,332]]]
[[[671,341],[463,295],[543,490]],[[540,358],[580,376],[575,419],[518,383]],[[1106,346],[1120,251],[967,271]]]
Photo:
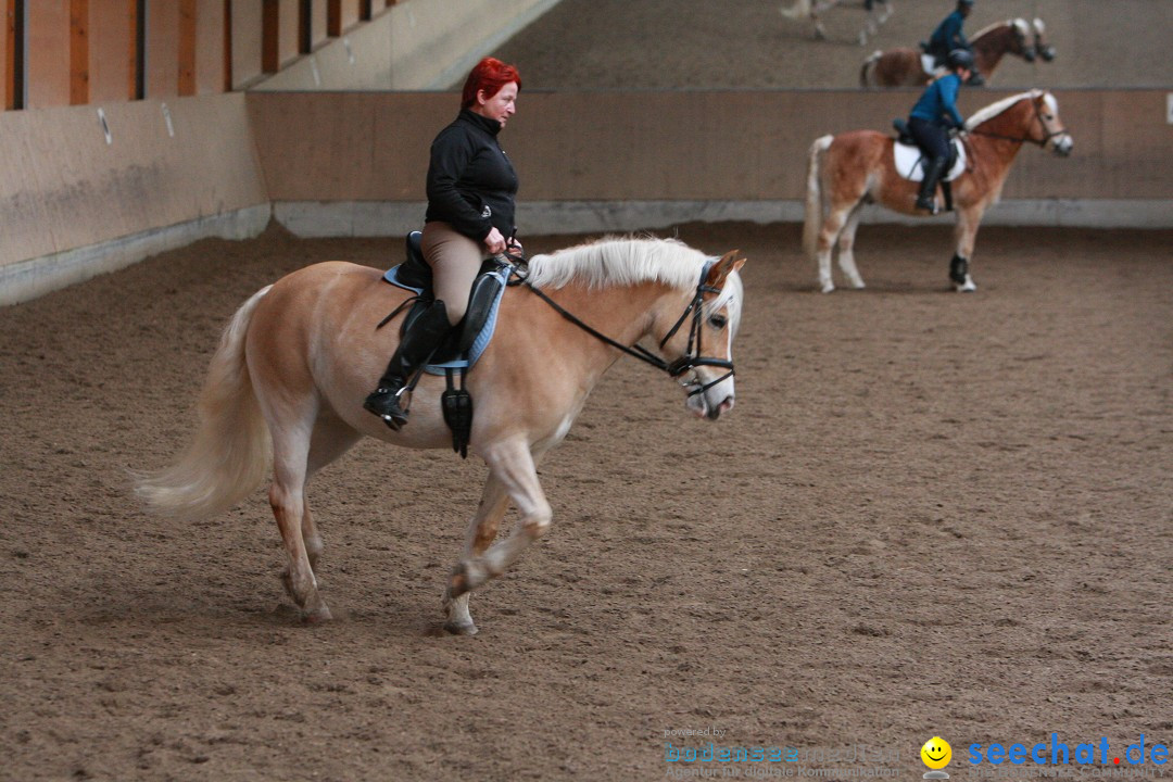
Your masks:
[[[538,288],[560,288],[579,283],[588,288],[660,283],[694,291],[700,271],[711,257],[677,239],[604,237],[597,242],[538,254],[529,259],[529,283]],[[740,320],[743,286],[734,272],[706,312],[728,307],[731,321]]]

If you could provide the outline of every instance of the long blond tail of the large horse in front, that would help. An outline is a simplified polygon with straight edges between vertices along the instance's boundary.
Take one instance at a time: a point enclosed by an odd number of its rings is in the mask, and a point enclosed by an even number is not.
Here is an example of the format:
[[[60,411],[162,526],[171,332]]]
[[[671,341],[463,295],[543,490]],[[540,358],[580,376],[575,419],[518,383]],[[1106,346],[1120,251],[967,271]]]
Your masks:
[[[245,363],[244,339],[267,286],[250,298],[224,329],[199,394],[199,428],[179,460],[157,472],[135,474],[147,506],[195,521],[222,512],[264,480],[272,461],[269,427]]]

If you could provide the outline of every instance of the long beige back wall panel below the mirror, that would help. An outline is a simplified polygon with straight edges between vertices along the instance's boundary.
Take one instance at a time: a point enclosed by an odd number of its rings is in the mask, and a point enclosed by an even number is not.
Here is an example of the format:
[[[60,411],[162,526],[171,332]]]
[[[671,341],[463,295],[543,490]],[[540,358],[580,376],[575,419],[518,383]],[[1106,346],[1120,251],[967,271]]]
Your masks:
[[[972,114],[1011,93],[962,94]],[[1022,149],[1004,198],[1162,199],[1173,192],[1164,90],[1057,93],[1076,151]],[[422,200],[428,145],[450,94],[250,93],[272,200]],[[899,98],[899,100],[895,100]],[[888,131],[915,93],[533,93],[501,136],[520,197],[560,200],[800,199],[811,143]],[[597,117],[609,117],[598,122]],[[1127,137],[1111,127],[1128,127]]]

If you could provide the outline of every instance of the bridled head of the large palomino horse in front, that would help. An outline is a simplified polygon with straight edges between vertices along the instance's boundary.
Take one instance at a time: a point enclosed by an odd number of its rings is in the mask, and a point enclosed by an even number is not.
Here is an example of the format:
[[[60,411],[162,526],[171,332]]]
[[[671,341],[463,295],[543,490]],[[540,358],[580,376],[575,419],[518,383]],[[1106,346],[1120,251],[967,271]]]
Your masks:
[[[685,407],[710,421],[733,407],[733,338],[743,297],[737,272],[744,264],[735,250],[725,253],[707,267],[684,312],[657,324],[669,374],[687,393]]]

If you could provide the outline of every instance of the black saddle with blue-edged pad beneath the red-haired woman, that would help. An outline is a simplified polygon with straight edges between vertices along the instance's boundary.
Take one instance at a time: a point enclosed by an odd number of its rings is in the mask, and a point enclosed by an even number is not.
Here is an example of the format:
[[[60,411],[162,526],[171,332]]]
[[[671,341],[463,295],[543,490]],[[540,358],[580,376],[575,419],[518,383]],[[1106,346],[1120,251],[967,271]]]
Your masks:
[[[412,231],[407,234],[406,259],[402,264],[389,268],[382,279],[396,287],[411,291],[415,295],[407,299],[389,315],[379,321],[375,328],[382,328],[405,307],[411,305],[404,322],[399,327],[402,333],[435,300],[432,291],[432,267],[423,259],[420,245],[422,233]],[[513,266],[496,258],[490,258],[481,265],[473,290],[468,294],[468,307],[465,317],[454,326],[436,348],[435,353],[423,365],[422,372],[433,375],[445,375],[447,388],[440,395],[440,407],[445,422],[452,429],[452,448],[462,458],[468,457],[468,441],[473,429],[473,396],[465,388],[465,375],[493,339],[497,325],[497,311]],[[456,373],[460,374],[460,386],[456,387]],[[415,390],[420,373],[411,379],[407,388]]]

